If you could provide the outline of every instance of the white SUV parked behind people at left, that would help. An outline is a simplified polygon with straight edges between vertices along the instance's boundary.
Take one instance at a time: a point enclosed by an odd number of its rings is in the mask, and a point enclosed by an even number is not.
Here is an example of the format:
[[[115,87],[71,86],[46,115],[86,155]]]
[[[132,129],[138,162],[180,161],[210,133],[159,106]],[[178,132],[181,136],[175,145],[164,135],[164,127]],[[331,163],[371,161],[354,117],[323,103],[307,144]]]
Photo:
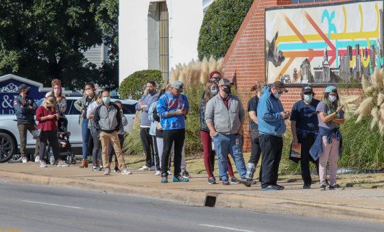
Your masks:
[[[67,110],[65,116],[68,119],[68,131],[71,132],[71,148],[73,153],[82,153],[82,127],[79,124],[80,111],[74,106],[76,100],[82,95],[73,93],[67,96]],[[128,125],[124,127],[126,132],[132,131],[134,116],[136,113],[136,100],[123,100],[112,97],[111,101],[119,100],[123,105],[123,113],[128,119]],[[39,104],[41,101],[36,102]],[[32,138],[31,133],[27,133],[27,153],[34,153],[36,141]],[[19,154],[20,137],[17,129],[16,115],[0,115],[0,163],[10,161],[11,163],[21,162],[21,154]]]

